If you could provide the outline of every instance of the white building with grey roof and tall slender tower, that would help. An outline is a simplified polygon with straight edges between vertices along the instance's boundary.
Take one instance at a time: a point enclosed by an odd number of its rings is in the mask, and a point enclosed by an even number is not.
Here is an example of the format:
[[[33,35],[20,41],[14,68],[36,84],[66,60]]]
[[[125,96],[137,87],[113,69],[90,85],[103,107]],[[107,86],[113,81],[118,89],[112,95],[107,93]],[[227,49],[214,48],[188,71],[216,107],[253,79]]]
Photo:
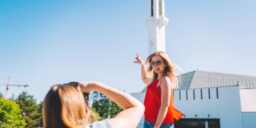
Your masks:
[[[149,0],[149,54],[165,51],[164,0]],[[256,77],[195,70],[179,78],[174,102],[184,117],[176,128],[256,128]],[[146,88],[132,93],[144,102]],[[142,118],[138,127],[143,127]]]

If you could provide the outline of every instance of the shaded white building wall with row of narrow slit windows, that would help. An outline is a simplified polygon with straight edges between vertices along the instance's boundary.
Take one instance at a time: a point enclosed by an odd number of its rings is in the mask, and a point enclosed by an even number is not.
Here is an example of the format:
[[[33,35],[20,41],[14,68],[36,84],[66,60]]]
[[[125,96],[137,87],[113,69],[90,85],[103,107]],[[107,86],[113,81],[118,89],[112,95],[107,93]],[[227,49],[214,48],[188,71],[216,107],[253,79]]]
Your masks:
[[[210,99],[208,88],[202,89],[202,99],[201,89],[195,89],[195,100],[193,90],[187,91],[188,99],[186,99],[186,90],[180,90],[181,100],[179,100],[179,90],[174,92],[175,104],[185,114],[184,118],[219,118],[222,128],[242,127],[238,86],[218,87],[218,99],[216,87],[210,88]]]

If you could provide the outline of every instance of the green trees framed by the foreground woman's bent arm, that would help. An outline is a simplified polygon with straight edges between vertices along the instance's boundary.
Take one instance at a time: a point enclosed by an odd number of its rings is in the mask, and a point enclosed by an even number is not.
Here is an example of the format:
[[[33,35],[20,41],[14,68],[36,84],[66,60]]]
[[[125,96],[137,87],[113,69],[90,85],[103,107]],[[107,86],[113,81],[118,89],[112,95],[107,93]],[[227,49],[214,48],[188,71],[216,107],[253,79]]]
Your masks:
[[[92,100],[92,108],[99,113],[101,119],[115,117],[119,112],[122,111],[122,109],[118,107],[117,104],[102,95],[102,93],[92,92],[90,99]]]

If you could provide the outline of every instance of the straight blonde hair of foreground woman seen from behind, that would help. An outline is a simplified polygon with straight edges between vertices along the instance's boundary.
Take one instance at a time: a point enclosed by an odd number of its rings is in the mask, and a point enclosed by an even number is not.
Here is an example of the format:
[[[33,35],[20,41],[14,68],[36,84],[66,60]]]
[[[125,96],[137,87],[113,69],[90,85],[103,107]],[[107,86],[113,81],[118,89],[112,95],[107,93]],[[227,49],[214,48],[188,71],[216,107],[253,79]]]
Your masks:
[[[88,117],[88,102],[79,87],[67,84],[51,87],[44,99],[44,128],[80,128],[87,124]]]

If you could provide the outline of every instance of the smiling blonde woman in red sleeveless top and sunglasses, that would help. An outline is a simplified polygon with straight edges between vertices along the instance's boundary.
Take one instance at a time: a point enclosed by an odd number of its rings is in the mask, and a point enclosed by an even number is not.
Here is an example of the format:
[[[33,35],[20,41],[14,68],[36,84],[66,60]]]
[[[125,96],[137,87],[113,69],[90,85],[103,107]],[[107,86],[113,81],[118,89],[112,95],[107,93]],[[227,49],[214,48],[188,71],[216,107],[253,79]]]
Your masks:
[[[174,119],[182,117],[182,113],[174,108],[173,90],[178,80],[175,65],[167,53],[157,51],[149,55],[146,63],[137,53],[136,61],[142,68],[142,80],[147,85],[144,99],[144,128],[169,128]],[[146,69],[146,65],[148,68]]]

